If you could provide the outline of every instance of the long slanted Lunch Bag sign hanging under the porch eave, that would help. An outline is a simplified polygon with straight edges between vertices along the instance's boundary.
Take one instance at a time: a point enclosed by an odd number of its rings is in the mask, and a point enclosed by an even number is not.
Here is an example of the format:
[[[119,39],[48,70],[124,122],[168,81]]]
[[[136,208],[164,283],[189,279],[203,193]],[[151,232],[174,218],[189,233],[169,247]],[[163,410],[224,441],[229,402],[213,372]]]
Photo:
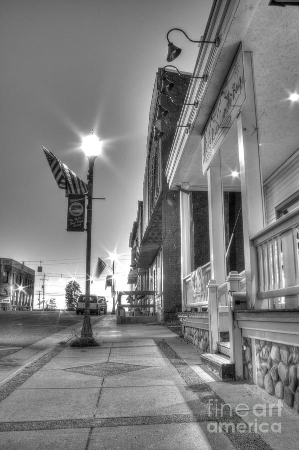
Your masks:
[[[245,99],[243,50],[240,44],[201,136],[203,174],[210,167]]]

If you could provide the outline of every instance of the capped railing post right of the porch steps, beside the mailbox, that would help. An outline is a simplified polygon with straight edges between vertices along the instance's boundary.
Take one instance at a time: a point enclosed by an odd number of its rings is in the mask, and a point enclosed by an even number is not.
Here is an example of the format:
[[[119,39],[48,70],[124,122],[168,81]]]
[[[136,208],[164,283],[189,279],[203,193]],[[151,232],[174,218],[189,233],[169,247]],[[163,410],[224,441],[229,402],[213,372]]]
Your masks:
[[[230,272],[227,277],[228,292],[239,292],[241,276],[238,272]],[[243,354],[242,354],[242,332],[241,328],[238,328],[238,322],[234,319],[234,311],[232,305],[228,301],[229,312],[229,332],[230,332],[230,353],[231,362],[235,364],[236,379],[243,379]]]

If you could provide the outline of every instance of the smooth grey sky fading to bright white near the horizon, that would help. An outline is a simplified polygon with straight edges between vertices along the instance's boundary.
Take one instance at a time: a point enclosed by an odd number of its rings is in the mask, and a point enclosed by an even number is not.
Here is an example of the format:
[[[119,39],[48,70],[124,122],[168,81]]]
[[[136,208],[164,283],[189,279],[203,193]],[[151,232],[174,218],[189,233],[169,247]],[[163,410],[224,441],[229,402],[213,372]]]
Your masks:
[[[82,137],[102,141],[94,166],[91,267],[111,266],[128,289],[129,234],[137,216],[148,118],[158,67],[167,65],[166,33],[199,40],[212,0],[0,0],[0,257],[25,261],[45,277],[45,301],[64,307],[65,285],[85,290],[86,233],[67,232],[67,198],[41,145],[80,178],[88,161]],[[197,44],[179,31],[173,64],[193,72]],[[107,266],[91,293],[105,291]],[[108,298],[111,310],[111,298]],[[36,305],[36,301],[34,302]]]

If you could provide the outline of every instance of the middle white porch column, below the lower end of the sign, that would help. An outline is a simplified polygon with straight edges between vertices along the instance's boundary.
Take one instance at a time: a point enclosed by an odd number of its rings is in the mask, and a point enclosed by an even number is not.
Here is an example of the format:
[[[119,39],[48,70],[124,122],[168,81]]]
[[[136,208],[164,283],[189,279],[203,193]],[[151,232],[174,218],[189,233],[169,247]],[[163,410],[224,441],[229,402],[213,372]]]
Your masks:
[[[220,152],[208,168],[207,175],[211,278],[222,284],[226,278],[226,259]]]

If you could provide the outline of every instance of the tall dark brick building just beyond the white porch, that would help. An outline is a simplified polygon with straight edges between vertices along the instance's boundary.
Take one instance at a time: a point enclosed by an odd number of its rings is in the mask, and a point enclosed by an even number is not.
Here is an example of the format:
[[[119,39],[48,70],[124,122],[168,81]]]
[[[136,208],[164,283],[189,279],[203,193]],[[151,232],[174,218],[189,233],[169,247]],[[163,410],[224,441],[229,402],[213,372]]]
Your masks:
[[[174,70],[166,73],[174,86],[171,97],[161,95],[163,69],[158,69],[150,107],[143,200],[138,203],[129,240],[132,270],[128,277],[132,289],[156,291],[155,312],[162,321],[176,318],[181,310],[180,194],[168,189],[165,168],[190,80]],[[169,110],[166,118],[171,126],[156,119],[159,105]],[[163,138],[154,140],[158,129]],[[143,304],[151,301],[151,297],[142,299]]]

